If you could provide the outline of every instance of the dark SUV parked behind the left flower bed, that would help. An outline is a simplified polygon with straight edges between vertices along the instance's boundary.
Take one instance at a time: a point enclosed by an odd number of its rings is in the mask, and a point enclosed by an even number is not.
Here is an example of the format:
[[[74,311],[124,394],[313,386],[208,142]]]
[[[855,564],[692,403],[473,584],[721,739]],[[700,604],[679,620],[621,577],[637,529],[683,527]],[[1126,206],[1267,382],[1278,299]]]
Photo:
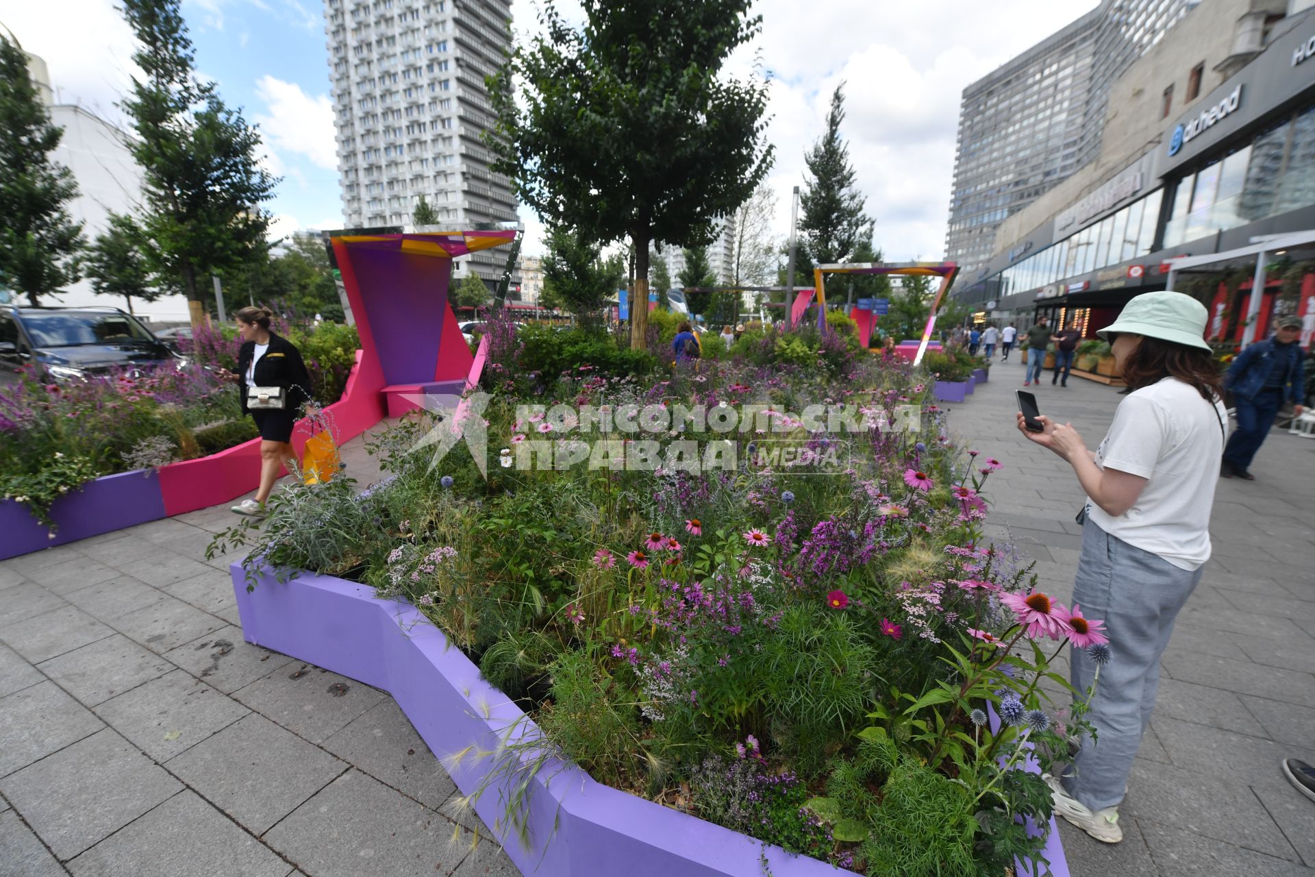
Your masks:
[[[22,368],[38,380],[70,381],[180,360],[118,308],[0,305],[0,380]]]

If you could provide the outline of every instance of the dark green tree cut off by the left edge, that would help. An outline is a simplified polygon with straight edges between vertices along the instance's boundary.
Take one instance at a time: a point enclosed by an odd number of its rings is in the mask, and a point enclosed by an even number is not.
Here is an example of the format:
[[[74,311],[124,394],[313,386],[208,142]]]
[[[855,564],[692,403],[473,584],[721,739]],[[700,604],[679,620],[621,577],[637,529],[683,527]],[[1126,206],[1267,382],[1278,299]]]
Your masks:
[[[80,276],[85,242],[67,209],[78,183],[50,160],[63,133],[37,96],[28,54],[0,36],[0,285],[33,305]]]

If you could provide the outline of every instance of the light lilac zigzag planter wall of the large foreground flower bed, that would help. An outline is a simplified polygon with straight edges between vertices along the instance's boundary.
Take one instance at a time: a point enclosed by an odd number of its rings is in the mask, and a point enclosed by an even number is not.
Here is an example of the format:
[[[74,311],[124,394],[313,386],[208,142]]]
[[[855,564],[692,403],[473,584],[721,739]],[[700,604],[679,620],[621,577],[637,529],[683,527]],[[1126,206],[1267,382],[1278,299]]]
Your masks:
[[[468,747],[489,752],[500,740],[538,736],[534,722],[481,680],[479,668],[409,604],[376,600],[366,585],[305,572],[285,584],[264,572],[249,593],[241,564],[233,564],[231,573],[249,643],[388,692],[435,756]],[[469,755],[451,776],[471,794],[489,769],[489,759]],[[529,845],[509,831],[500,789],[475,803],[487,826],[498,826],[497,839],[530,877],[851,873],[601,785],[571,764],[539,770],[531,786]],[[1068,877],[1053,822],[1045,856],[1051,874]]]

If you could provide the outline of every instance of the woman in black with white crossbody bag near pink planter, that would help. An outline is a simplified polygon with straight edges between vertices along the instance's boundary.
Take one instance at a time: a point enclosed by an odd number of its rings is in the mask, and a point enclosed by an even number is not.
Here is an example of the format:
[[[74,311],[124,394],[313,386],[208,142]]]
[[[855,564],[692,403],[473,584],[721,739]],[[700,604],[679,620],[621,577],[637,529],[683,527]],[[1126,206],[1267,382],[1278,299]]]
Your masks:
[[[242,410],[251,414],[260,430],[260,488],[254,500],[243,500],[233,506],[238,514],[251,517],[264,515],[264,501],[274,490],[279,479],[279,467],[288,463],[292,471],[297,455],[292,450],[292,425],[297,409],[304,404],[312,413],[310,375],[301,362],[301,354],[287,338],[270,331],[270,318],[274,314],[264,308],[243,308],[234,317],[238,321],[238,334],[242,347],[238,350],[237,380],[242,394]],[[251,409],[247,406],[247,391],[251,387],[279,387],[283,389],[281,409]]]

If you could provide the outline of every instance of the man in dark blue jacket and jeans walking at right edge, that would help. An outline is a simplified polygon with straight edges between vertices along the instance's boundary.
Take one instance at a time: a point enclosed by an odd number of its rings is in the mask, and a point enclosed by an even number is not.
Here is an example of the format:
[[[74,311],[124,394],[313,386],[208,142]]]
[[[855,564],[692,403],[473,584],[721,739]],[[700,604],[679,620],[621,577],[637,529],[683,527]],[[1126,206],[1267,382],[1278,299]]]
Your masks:
[[[1228,367],[1224,387],[1232,392],[1237,406],[1237,429],[1224,448],[1220,475],[1226,479],[1236,475],[1255,481],[1256,476],[1247,469],[1269,435],[1278,409],[1290,401],[1297,406],[1295,413],[1302,413],[1306,371],[1297,343],[1301,329],[1299,320],[1285,318],[1273,338],[1241,351]]]

